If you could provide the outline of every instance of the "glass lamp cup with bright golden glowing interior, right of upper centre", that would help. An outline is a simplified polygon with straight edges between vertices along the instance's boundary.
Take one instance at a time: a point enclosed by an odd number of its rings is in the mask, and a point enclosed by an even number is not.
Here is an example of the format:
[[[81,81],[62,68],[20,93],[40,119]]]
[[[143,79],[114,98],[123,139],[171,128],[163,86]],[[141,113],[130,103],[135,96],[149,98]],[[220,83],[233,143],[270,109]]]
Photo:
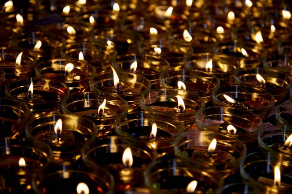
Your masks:
[[[212,64],[211,64],[212,59]],[[210,62],[212,71],[206,68]],[[220,80],[220,85],[228,85],[234,82],[234,72],[240,67],[237,59],[223,54],[194,53],[184,59],[184,67],[187,69],[200,69],[206,71]]]

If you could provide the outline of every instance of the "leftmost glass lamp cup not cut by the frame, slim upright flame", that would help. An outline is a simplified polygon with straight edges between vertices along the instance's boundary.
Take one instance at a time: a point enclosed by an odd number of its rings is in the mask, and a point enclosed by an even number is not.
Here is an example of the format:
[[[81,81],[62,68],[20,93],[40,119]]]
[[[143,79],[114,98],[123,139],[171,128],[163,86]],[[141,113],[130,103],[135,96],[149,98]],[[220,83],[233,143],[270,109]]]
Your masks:
[[[33,92],[30,86],[33,87]],[[26,103],[30,107],[31,116],[38,117],[60,112],[62,99],[70,94],[70,90],[60,81],[47,78],[25,78],[8,83],[5,94],[7,97]]]

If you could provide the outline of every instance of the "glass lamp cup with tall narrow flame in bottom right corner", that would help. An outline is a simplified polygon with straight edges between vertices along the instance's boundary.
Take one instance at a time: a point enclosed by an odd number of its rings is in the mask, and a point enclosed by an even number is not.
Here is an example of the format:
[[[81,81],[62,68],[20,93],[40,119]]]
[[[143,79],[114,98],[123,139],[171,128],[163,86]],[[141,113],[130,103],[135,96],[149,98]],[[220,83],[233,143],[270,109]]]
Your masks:
[[[281,183],[274,181],[274,168],[280,169]],[[255,152],[245,156],[240,162],[240,175],[245,182],[260,183],[278,193],[291,192],[291,162],[285,161],[281,154],[274,152]]]

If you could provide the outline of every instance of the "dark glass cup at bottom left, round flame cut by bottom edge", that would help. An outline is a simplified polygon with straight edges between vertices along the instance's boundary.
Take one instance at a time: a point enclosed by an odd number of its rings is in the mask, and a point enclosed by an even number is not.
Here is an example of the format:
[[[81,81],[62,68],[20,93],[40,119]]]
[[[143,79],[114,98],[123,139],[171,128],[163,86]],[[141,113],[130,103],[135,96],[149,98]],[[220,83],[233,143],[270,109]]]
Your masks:
[[[88,187],[90,194],[108,193],[114,188],[114,178],[105,169],[89,165],[75,167],[70,165],[70,162],[50,165],[36,171],[32,182],[36,194],[77,194],[77,186],[80,183]],[[82,193],[84,190],[80,194]]]

